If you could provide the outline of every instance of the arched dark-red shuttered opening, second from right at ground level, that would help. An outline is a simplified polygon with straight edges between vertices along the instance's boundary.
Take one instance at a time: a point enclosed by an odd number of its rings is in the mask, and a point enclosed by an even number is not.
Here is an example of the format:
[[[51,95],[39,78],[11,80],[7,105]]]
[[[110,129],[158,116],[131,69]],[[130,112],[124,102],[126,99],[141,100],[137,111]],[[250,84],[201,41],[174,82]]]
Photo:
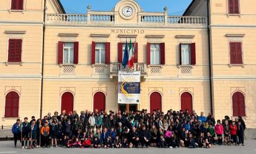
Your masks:
[[[181,94],[180,97],[180,102],[181,102],[181,110],[185,111],[186,109],[188,109],[188,111],[190,112],[190,114],[192,114],[193,111],[193,99],[190,93],[185,92],[183,94]]]

